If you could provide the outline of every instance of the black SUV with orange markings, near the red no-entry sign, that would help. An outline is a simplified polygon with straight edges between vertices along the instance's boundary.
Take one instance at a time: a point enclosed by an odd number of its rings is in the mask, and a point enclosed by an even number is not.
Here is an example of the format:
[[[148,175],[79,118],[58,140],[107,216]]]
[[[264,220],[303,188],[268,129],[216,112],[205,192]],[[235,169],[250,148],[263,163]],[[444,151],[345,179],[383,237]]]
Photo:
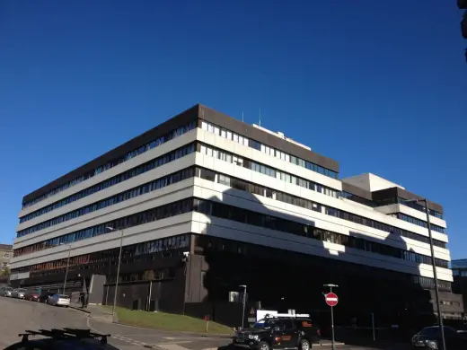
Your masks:
[[[266,318],[260,319],[251,328],[238,331],[233,345],[257,350],[301,349],[310,350],[320,341],[320,329],[311,319]]]

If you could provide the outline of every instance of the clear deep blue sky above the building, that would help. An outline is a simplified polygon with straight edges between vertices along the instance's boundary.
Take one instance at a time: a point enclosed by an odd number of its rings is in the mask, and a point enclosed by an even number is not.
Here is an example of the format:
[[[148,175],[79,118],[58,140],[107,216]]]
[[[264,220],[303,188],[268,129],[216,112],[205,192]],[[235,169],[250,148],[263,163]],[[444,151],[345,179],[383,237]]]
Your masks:
[[[22,196],[201,102],[445,206],[467,258],[455,0],[0,2],[0,240]]]

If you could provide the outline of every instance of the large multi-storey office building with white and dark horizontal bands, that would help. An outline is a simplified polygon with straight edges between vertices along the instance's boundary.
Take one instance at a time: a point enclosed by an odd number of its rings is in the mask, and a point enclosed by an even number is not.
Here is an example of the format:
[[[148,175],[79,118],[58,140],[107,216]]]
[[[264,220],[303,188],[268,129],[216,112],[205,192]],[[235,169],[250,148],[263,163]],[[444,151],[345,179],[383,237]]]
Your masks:
[[[67,276],[69,290],[110,302],[123,237],[120,305],[220,319],[247,285],[256,306],[318,312],[331,283],[338,322],[431,317],[414,198],[371,173],[339,179],[310,147],[196,105],[23,197],[12,283],[59,288]],[[443,207],[428,208],[440,299],[452,300]]]

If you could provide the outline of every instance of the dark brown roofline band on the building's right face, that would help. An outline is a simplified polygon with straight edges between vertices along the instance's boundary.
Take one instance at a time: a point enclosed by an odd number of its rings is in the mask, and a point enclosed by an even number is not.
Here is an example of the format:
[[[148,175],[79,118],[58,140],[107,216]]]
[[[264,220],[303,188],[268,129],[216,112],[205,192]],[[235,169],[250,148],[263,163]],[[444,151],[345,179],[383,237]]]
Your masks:
[[[229,117],[224,113],[218,112],[214,109],[210,109],[206,106],[199,106],[199,118],[206,120],[207,122],[216,124],[218,127],[225,127],[236,134],[246,136],[253,140],[266,144],[279,150],[300,157],[308,162],[313,162],[317,165],[321,165],[323,168],[331,171],[339,172],[339,162],[336,162],[330,158],[324,157],[321,154],[308,151],[299,145],[292,144],[286,140],[283,140],[277,136],[270,135],[269,133],[260,130],[259,128],[252,127],[249,124],[243,123],[240,120]]]

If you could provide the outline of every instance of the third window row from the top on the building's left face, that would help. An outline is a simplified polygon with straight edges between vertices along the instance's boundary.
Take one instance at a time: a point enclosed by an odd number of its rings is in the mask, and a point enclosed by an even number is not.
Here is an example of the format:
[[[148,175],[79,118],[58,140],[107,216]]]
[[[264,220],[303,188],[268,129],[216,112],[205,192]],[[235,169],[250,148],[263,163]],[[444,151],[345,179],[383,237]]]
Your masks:
[[[37,225],[24,229],[18,232],[18,237],[22,237],[24,235],[40,231],[47,227],[54,226],[58,223],[64,223],[68,220],[75,219],[76,217],[83,216],[89,213],[93,213],[96,210],[103,209],[107,206],[116,205],[118,203],[124,202],[134,197],[143,196],[146,193],[152,192],[159,188],[170,186],[176,182],[182,181],[183,179],[192,178],[193,172],[194,172],[193,168],[189,168],[183,171],[177,171],[171,175],[164,176],[163,178],[145,183],[144,185],[138,186],[137,188],[128,189],[127,191],[119,193],[118,195],[108,197],[106,199],[102,199],[101,201],[93,203],[92,205],[84,206],[72,212],[57,216],[51,220],[45,221],[43,223],[38,223]]]

